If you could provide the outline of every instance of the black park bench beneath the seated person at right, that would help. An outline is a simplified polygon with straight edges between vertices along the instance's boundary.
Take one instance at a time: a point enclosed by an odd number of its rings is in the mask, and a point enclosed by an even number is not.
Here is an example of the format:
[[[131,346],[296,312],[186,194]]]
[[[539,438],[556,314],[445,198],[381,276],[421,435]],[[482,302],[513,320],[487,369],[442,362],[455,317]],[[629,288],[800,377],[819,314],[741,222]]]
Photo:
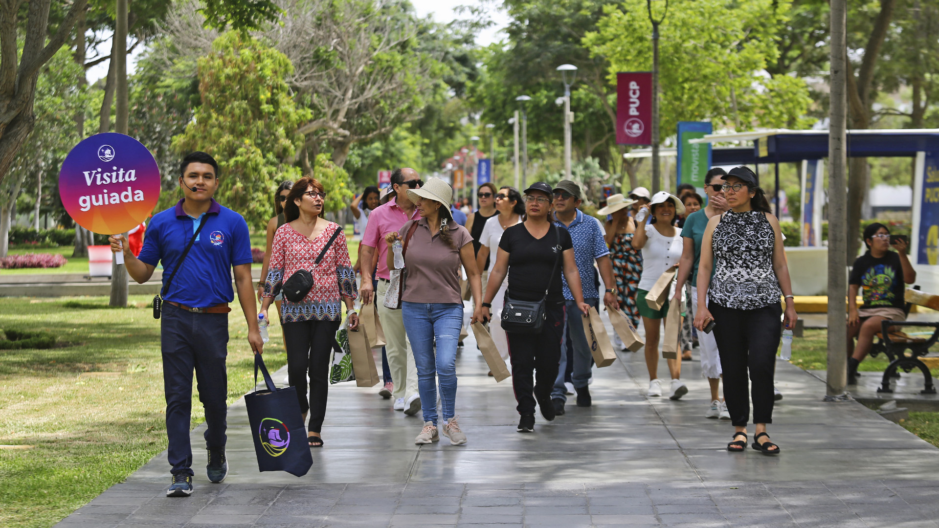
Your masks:
[[[920,291],[918,286],[906,288],[904,297],[906,299],[904,311],[907,315],[909,315],[910,307],[913,304],[939,310],[939,295],[932,295],[931,293]],[[918,368],[923,373],[924,380],[924,388],[920,393],[924,395],[936,394],[936,389],[932,385],[930,367],[919,358],[928,354],[932,345],[939,340],[939,321],[884,320],[881,322],[881,325],[882,330],[875,334],[877,339],[870,349],[870,355],[876,357],[878,354],[884,353],[890,360],[890,365],[887,365],[884,371],[884,380],[881,386],[877,388],[877,392],[893,392],[893,389],[890,388],[890,379],[900,378],[899,369],[902,369],[903,372],[910,373],[914,368]],[[894,327],[894,329],[891,331],[890,327]],[[905,334],[897,327],[930,327],[934,330],[930,338],[926,339],[916,335]]]

